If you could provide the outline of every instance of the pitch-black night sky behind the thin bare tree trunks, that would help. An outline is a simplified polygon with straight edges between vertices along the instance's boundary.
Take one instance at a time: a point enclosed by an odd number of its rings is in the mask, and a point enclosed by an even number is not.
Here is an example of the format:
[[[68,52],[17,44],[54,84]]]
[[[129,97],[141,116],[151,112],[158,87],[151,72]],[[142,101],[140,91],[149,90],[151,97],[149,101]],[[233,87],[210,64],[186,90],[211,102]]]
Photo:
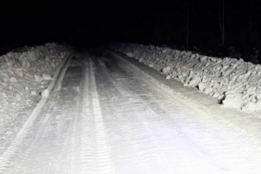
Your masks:
[[[1,5],[1,45],[51,41],[185,45],[187,2],[9,1]],[[218,1],[190,2],[190,45],[218,47]],[[249,47],[260,48],[260,7],[258,1],[225,2],[226,47],[234,45],[243,52]]]

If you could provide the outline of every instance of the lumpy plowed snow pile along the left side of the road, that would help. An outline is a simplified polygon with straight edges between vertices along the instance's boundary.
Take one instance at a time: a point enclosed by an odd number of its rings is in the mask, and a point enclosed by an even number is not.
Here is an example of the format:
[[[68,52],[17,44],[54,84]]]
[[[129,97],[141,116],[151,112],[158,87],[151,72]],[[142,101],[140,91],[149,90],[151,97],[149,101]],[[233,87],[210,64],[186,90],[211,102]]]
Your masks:
[[[72,52],[66,45],[47,43],[24,47],[0,57],[0,133],[18,111],[40,98],[56,68]]]

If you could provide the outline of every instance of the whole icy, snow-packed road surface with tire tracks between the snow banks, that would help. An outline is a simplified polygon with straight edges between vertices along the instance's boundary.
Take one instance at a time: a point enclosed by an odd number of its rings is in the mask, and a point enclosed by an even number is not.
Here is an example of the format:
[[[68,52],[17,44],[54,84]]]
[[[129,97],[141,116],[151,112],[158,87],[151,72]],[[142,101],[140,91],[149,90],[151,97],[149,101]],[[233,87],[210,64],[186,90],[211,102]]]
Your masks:
[[[114,53],[63,70],[0,173],[261,172],[259,120]]]

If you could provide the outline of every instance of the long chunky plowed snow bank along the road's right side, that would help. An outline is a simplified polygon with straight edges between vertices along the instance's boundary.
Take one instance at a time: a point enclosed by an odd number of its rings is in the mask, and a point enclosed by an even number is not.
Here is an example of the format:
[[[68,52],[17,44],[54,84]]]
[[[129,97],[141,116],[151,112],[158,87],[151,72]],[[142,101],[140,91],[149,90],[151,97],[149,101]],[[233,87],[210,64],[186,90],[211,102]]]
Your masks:
[[[259,64],[153,45],[113,43],[110,48],[161,71],[166,79],[177,79],[184,86],[196,87],[203,93],[217,97],[224,107],[257,112],[261,110]]]

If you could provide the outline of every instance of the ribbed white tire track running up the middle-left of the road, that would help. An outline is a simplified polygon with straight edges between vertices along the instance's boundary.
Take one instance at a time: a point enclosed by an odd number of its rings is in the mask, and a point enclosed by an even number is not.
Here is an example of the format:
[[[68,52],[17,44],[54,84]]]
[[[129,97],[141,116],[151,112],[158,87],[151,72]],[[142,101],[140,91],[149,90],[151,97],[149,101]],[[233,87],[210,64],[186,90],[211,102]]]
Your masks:
[[[88,88],[85,88],[87,95],[84,98],[79,173],[86,173],[87,171],[88,173],[113,173],[93,65],[91,58],[88,58],[86,68]]]

